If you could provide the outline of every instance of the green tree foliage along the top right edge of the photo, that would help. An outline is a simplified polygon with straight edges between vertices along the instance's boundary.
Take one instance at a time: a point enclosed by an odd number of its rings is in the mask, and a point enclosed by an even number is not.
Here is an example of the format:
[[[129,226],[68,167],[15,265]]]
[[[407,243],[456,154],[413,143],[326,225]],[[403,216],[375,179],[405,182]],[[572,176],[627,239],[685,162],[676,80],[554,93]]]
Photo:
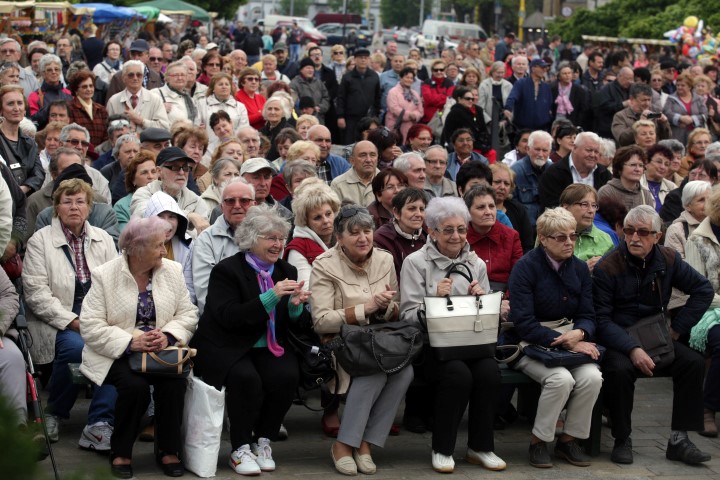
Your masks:
[[[595,11],[579,10],[548,26],[551,35],[581,42],[582,35],[661,40],[663,33],[695,15],[720,33],[720,0],[613,0]]]

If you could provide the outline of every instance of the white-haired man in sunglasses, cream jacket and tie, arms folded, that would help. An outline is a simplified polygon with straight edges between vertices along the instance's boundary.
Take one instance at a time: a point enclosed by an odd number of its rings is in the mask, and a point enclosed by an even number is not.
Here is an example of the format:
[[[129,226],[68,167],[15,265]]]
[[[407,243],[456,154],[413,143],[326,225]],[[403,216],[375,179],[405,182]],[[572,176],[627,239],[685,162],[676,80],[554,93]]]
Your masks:
[[[128,60],[123,64],[120,74],[125,90],[110,98],[107,105],[108,115],[126,115],[135,125],[137,133],[148,127],[169,130],[170,122],[160,95],[142,86],[144,68],[138,60]]]

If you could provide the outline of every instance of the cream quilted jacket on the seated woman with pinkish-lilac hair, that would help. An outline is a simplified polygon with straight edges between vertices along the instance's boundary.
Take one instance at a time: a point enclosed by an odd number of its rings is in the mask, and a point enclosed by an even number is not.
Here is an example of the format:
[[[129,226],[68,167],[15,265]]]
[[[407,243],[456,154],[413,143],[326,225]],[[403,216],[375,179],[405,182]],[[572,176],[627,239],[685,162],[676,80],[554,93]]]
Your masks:
[[[92,278],[80,321],[85,341],[80,371],[101,385],[115,359],[132,341],[138,286],[124,256],[95,270]],[[175,337],[177,344],[187,345],[198,316],[185,287],[182,265],[164,258],[160,268],[153,271],[152,287],[157,328]]]

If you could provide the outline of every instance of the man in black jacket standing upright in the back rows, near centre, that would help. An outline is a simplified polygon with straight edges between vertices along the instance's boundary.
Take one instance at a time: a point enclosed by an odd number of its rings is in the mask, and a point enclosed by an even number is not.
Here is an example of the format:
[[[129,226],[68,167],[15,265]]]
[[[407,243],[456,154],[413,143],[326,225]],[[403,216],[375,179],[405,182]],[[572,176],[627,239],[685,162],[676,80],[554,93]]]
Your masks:
[[[343,75],[337,95],[338,127],[345,129],[345,144],[355,143],[355,129],[363,117],[380,112],[380,77],[370,65],[370,51],[355,52],[355,69]]]

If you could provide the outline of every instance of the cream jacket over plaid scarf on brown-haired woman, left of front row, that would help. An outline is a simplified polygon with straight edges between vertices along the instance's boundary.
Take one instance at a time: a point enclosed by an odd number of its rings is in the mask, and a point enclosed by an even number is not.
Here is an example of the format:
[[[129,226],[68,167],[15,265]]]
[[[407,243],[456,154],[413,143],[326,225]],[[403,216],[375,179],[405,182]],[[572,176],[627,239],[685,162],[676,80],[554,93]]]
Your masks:
[[[106,232],[88,222],[85,222],[85,231],[85,260],[92,273],[117,258],[118,253],[115,242]],[[55,217],[50,225],[30,238],[25,253],[22,280],[28,328],[33,336],[30,352],[37,364],[54,360],[58,330],[65,330],[77,318],[72,312],[75,266],[65,256],[64,247],[69,248],[60,220]]]

